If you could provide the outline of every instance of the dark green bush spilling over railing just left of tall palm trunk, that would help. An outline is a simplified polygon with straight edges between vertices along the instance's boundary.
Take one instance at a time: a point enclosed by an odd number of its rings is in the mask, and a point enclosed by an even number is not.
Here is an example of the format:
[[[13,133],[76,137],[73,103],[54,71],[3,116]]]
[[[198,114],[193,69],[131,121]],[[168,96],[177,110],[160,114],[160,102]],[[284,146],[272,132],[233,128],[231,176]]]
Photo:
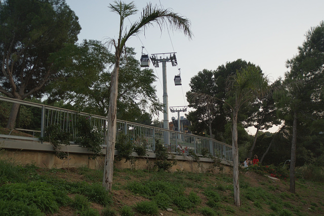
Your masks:
[[[93,125],[91,116],[78,118],[76,126],[78,133],[75,142],[81,147],[88,148],[93,153],[92,159],[100,156],[104,140],[100,129]]]

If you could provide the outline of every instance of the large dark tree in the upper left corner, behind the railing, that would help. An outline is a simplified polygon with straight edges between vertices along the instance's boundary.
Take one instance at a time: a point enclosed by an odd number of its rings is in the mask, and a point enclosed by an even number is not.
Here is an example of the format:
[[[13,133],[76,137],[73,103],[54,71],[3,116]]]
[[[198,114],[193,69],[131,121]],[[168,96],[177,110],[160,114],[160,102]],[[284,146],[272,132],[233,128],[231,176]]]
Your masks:
[[[74,44],[80,29],[64,0],[0,2],[0,93],[20,100],[39,97],[59,72],[55,53]],[[17,112],[14,105],[8,127],[13,127]]]

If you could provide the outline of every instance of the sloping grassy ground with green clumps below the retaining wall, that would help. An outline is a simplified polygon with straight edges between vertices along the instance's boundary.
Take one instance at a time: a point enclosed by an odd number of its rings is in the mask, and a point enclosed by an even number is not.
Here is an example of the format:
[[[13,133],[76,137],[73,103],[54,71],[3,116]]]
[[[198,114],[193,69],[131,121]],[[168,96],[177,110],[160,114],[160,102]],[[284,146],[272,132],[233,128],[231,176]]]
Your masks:
[[[323,215],[324,183],[271,182],[240,174],[241,207],[233,204],[231,175],[115,169],[113,191],[102,170],[46,169],[0,161],[0,215]],[[172,208],[169,212],[166,209]]]

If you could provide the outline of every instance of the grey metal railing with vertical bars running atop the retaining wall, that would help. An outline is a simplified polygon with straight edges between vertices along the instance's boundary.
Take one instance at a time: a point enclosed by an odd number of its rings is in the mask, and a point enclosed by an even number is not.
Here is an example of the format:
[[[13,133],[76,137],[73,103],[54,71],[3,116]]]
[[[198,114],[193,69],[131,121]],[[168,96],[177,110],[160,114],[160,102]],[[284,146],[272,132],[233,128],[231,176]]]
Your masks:
[[[29,140],[42,140],[46,133],[46,128],[53,124],[59,125],[62,132],[67,132],[71,135],[70,143],[75,143],[77,139],[77,122],[81,116],[86,116],[91,121],[92,125],[98,132],[105,135],[107,117],[99,115],[91,115],[83,112],[76,112],[58,107],[52,107],[43,104],[37,104],[27,101],[21,101],[0,96],[0,106],[5,103],[19,103],[20,108],[34,109],[34,115],[39,118],[39,121],[34,123],[35,128],[28,128],[26,132],[30,131],[33,136],[36,133],[37,138],[29,137]],[[7,104],[11,108],[10,105]],[[38,114],[38,115],[37,115]],[[23,128],[18,128],[23,129]],[[40,132],[40,133],[39,133]],[[37,133],[39,136],[37,136]],[[192,134],[184,134],[175,131],[169,131],[168,129],[147,126],[143,124],[133,123],[129,121],[117,120],[117,135],[123,133],[127,135],[134,142],[145,141],[148,151],[155,150],[155,143],[159,142],[165,145],[173,153],[188,154],[189,151],[194,152],[197,155],[203,155],[208,153],[214,157],[232,161],[232,147],[225,143],[216,141],[214,139],[199,137]],[[13,136],[0,134],[0,138],[12,138],[26,140],[25,136]],[[117,136],[118,137],[118,136]],[[103,143],[104,145],[104,143]]]

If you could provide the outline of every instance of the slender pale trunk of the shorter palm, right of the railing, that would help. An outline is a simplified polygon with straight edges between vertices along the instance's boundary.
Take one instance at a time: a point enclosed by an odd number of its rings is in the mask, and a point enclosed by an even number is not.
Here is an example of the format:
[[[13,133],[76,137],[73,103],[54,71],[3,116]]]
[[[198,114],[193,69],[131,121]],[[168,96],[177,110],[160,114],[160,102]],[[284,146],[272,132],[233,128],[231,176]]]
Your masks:
[[[233,156],[233,186],[234,186],[234,204],[240,206],[239,184],[238,184],[238,146],[237,146],[237,114],[238,110],[233,112],[232,128],[232,156]]]

